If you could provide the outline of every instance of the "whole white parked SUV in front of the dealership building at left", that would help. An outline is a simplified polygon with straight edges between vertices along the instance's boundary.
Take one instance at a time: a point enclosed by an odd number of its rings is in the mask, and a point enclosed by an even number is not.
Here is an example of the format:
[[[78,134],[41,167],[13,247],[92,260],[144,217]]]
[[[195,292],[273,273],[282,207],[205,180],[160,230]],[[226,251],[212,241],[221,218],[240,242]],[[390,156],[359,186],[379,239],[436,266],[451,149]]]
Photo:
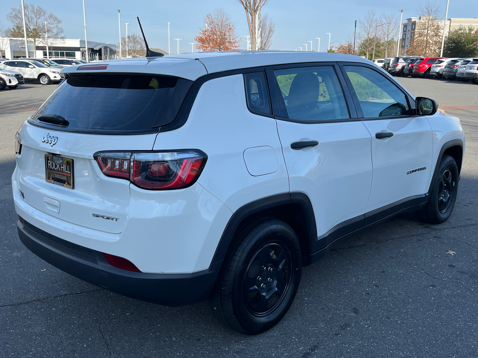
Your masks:
[[[60,69],[49,67],[35,60],[15,59],[2,62],[2,67],[22,74],[25,80],[38,81],[41,84],[61,81]]]

